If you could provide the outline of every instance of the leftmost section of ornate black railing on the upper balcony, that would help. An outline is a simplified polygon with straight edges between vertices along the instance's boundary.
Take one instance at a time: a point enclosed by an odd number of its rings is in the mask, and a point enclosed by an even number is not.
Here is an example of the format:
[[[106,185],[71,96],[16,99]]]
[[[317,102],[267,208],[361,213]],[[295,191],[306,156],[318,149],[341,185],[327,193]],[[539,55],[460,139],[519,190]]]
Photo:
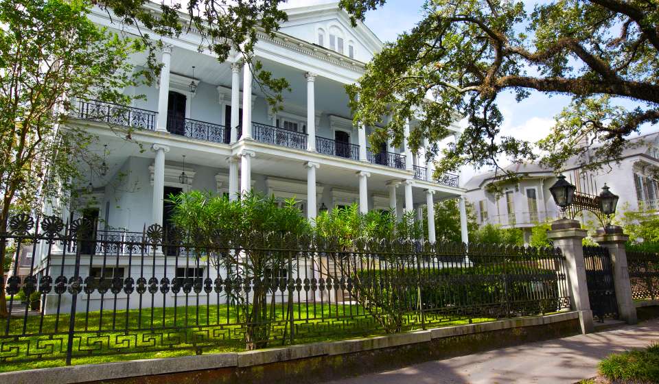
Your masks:
[[[157,112],[152,110],[120,106],[105,101],[79,101],[78,109],[73,111],[78,119],[103,121],[104,123],[124,127],[154,130]]]

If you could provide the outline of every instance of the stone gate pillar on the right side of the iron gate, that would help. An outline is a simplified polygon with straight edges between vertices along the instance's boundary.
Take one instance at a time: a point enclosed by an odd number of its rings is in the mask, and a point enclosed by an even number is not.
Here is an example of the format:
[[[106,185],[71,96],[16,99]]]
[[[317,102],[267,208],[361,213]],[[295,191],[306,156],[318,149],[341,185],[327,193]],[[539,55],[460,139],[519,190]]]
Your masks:
[[[613,269],[613,283],[616,287],[616,300],[618,300],[618,314],[627,324],[636,324],[636,306],[632,300],[632,283],[629,281],[627,268],[627,252],[625,243],[629,236],[623,234],[623,228],[608,226],[607,231],[598,230],[592,239],[609,250]]]

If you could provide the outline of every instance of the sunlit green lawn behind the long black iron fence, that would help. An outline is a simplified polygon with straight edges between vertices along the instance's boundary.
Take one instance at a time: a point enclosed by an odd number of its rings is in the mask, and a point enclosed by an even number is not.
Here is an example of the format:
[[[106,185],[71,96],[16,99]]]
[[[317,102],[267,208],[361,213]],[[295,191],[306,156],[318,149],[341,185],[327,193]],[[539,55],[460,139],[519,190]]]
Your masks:
[[[179,302],[179,304],[181,304]],[[145,302],[149,306],[150,302]],[[289,343],[288,306],[276,304],[268,346]],[[294,344],[382,335],[384,331],[356,304],[294,303]],[[245,350],[239,308],[227,304],[78,313],[71,363],[90,364]],[[0,372],[65,365],[68,314],[0,319]],[[446,315],[427,326],[492,321]],[[421,328],[414,314],[404,330]],[[9,325],[9,326],[8,326]],[[8,328],[7,328],[8,326]],[[25,326],[25,328],[24,328]],[[9,330],[6,333],[6,330]]]

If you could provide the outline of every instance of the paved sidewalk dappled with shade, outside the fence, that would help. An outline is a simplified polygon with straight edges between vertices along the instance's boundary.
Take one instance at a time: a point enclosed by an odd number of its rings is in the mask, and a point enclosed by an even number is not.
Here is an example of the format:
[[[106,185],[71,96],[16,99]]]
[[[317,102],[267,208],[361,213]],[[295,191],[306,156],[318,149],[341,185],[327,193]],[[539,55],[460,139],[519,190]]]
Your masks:
[[[429,361],[332,383],[575,383],[595,376],[597,363],[610,353],[643,348],[652,341],[659,341],[658,319],[612,331]]]

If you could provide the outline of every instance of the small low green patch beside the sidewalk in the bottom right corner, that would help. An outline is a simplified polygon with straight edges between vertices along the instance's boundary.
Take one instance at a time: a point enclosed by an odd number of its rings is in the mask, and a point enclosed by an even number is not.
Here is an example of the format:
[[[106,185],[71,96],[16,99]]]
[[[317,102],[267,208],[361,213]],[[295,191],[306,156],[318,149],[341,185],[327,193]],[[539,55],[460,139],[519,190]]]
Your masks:
[[[659,343],[610,355],[599,363],[599,372],[610,381],[659,383]]]

